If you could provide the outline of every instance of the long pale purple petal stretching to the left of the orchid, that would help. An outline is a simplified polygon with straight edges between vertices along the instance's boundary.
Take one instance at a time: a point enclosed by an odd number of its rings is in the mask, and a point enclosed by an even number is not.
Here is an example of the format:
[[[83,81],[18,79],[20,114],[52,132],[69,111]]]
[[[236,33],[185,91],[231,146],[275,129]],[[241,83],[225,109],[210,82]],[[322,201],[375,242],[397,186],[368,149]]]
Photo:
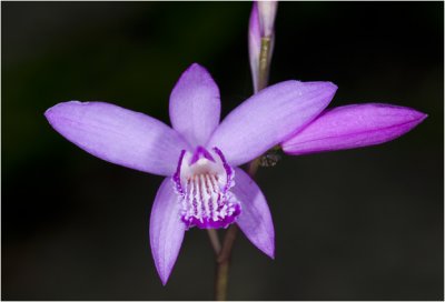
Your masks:
[[[165,123],[110,103],[70,101],[44,112],[52,128],[102,160],[171,175],[186,143]]]

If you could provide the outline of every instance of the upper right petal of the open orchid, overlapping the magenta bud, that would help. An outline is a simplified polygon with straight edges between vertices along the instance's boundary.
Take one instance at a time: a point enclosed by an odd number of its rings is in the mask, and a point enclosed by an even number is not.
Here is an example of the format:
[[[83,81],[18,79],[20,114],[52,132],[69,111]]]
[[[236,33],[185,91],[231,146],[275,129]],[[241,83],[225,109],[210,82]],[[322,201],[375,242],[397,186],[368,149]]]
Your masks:
[[[286,81],[268,87],[230,112],[207,145],[219,148],[231,165],[246,163],[317,117],[336,90],[330,82]]]

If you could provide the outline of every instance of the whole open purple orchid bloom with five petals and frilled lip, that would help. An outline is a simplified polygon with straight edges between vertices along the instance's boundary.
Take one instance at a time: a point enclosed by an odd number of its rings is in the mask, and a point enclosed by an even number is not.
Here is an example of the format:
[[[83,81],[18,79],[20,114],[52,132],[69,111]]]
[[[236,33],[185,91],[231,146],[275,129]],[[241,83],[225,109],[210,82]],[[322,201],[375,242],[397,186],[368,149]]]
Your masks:
[[[162,175],[150,215],[150,246],[164,284],[185,231],[237,223],[274,258],[274,224],[255,181],[237,168],[293,137],[330,102],[330,82],[285,81],[254,94],[221,123],[219,89],[206,69],[188,68],[170,94],[172,128],[105,102],[69,101],[44,113],[52,128],[102,160]]]

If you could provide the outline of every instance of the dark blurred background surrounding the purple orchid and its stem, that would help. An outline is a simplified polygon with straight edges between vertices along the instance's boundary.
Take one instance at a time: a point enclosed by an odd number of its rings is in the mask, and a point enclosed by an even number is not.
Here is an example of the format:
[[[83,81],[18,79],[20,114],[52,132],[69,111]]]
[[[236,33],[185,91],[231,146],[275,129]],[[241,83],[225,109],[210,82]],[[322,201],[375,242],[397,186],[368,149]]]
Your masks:
[[[3,300],[209,300],[214,254],[190,230],[167,286],[149,213],[161,178],[89,155],[43,112],[108,101],[169,123],[192,62],[224,114],[251,94],[249,2],[2,2]],[[333,81],[330,107],[428,113],[368,149],[285,157],[258,172],[276,260],[240,234],[233,300],[443,300],[444,3],[283,2],[270,82]]]

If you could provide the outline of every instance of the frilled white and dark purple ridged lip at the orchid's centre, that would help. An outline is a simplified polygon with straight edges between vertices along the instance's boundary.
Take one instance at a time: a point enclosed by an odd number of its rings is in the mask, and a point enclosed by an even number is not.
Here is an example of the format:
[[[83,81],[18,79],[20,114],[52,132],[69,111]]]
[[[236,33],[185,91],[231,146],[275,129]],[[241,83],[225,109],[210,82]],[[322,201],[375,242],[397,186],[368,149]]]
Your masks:
[[[241,213],[240,202],[230,192],[234,169],[218,148],[182,150],[172,177],[181,204],[180,219],[187,228],[227,228]]]

